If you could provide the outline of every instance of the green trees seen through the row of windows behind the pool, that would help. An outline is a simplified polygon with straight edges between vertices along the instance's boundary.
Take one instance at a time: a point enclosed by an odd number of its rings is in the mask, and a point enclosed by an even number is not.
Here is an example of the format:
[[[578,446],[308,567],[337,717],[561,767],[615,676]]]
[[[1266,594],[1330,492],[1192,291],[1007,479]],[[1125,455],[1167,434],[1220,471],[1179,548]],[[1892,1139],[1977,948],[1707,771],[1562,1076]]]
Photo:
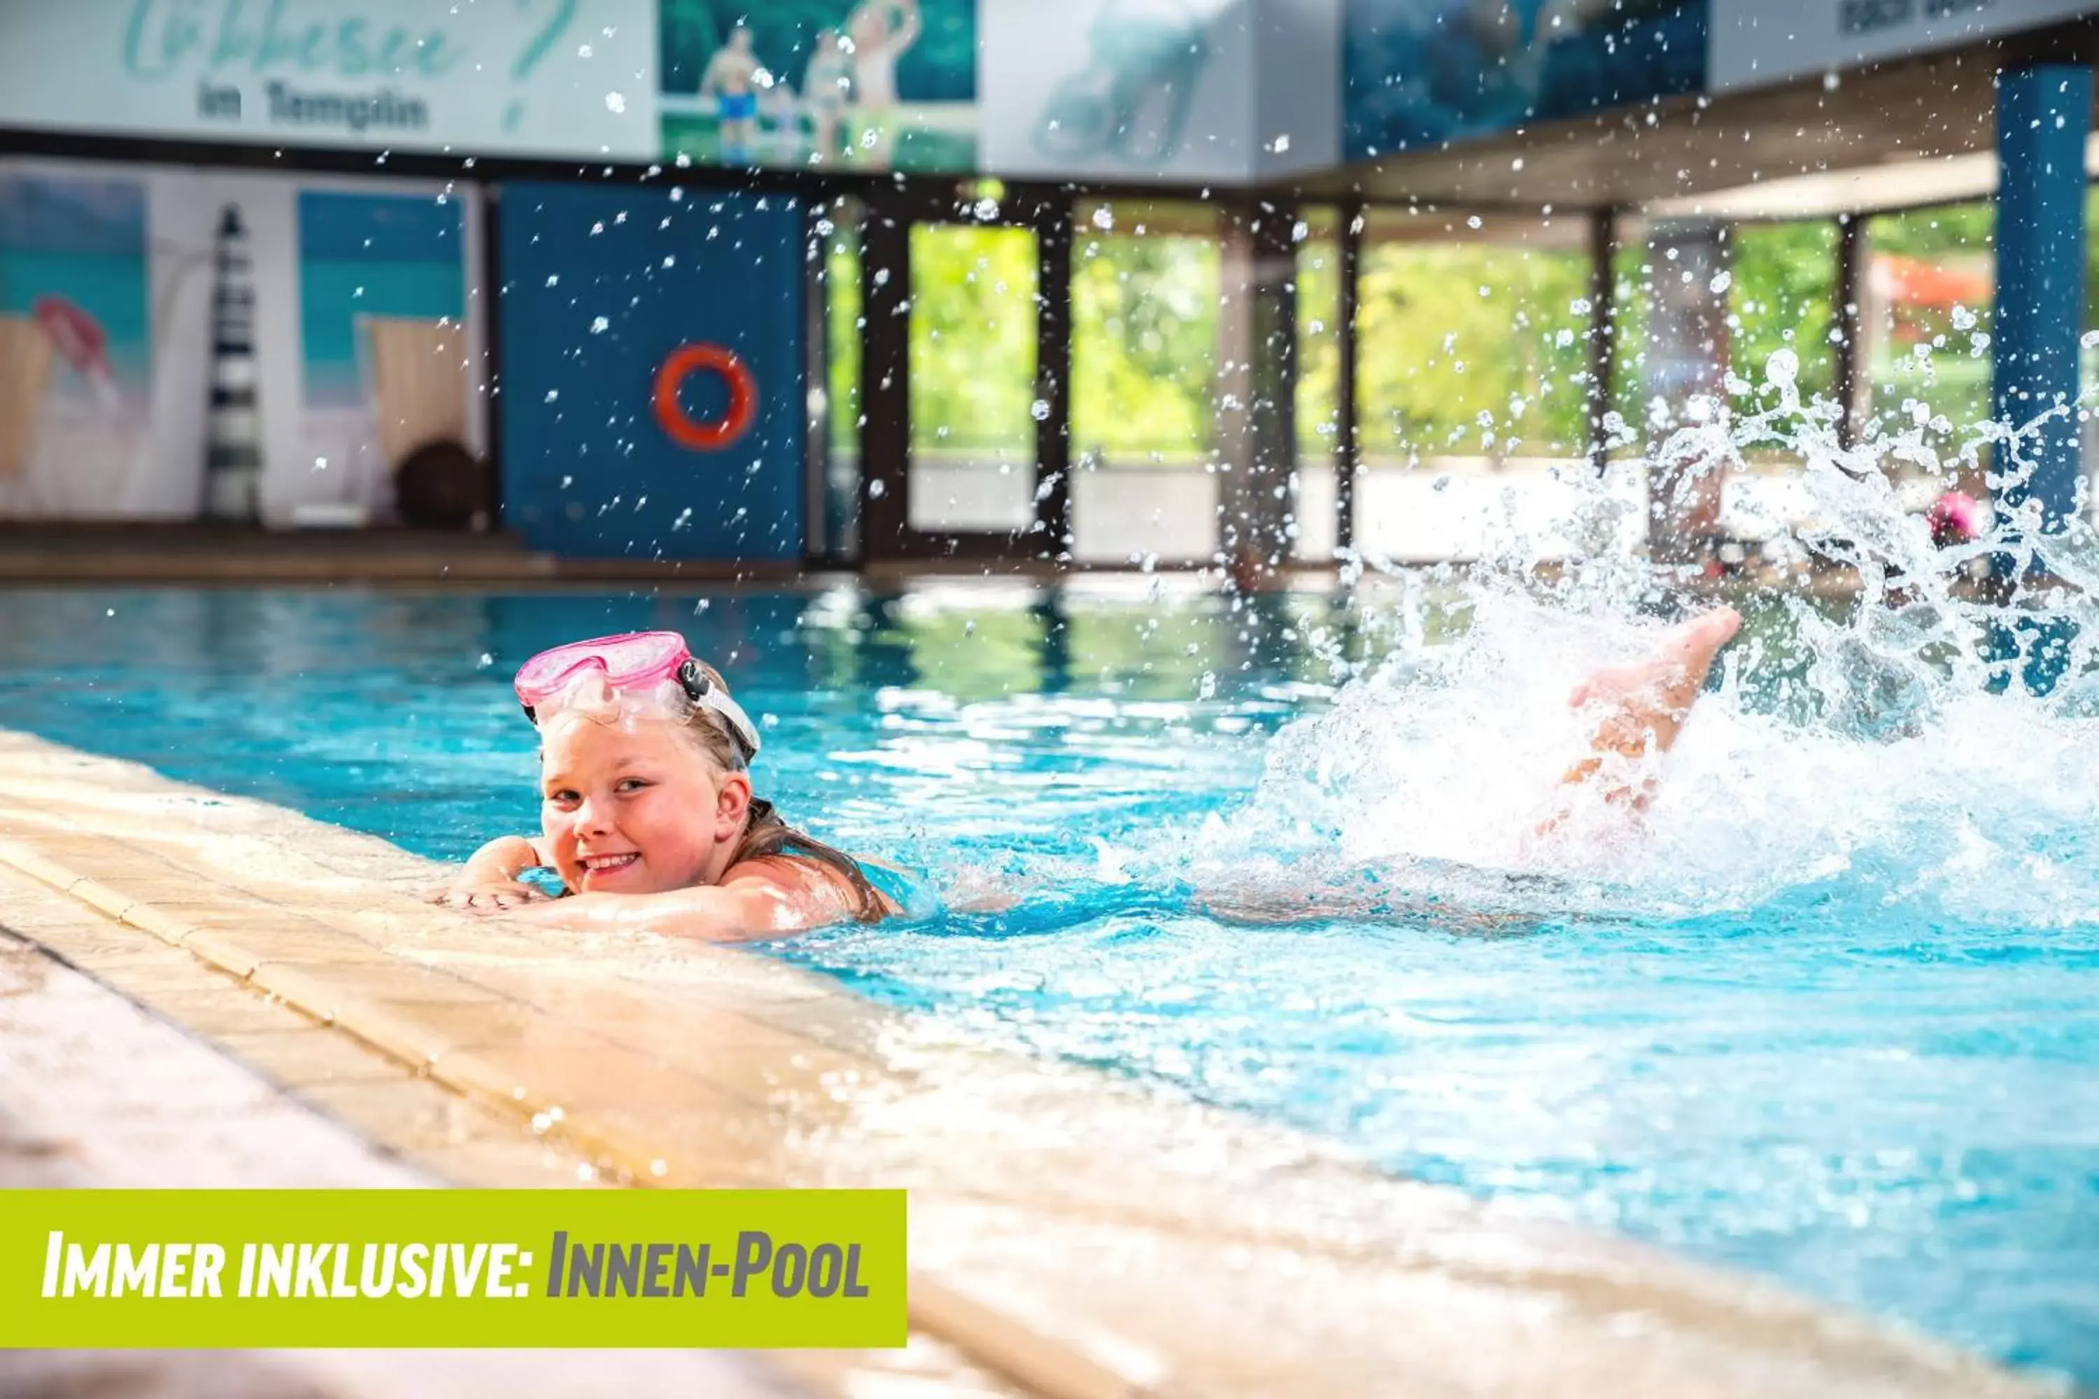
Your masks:
[[[1589,256],[1585,227],[1511,237],[1459,229],[1450,239],[1381,237],[1373,212],[1358,296],[1358,411],[1371,464],[1440,455],[1578,457],[1587,449]],[[1446,216],[1463,222],[1463,216]],[[1215,432],[1220,247],[1215,212],[1175,206],[1154,218],[1081,210],[1073,245],[1073,457],[1102,466],[1194,464]],[[1033,287],[1033,243],[953,229],[917,243],[911,310],[913,436],[926,447],[1024,451],[1033,422],[1008,403],[1033,365],[1035,319],[997,287]],[[1333,218],[1312,218],[1297,256],[1297,438],[1303,459],[1335,443],[1339,258]],[[1492,233],[1492,231],[1490,231]],[[1864,354],[1870,415],[1910,424],[1929,403],[1960,436],[1990,411],[1988,203],[1868,220]],[[1753,388],[1780,348],[1799,354],[1805,394],[1828,394],[1839,346],[1832,304],[1835,220],[1738,224],[1732,235],[1730,367]],[[2099,247],[2095,247],[2099,262]],[[850,252],[831,268],[833,432],[850,434],[856,363],[840,354],[858,317]],[[1646,250],[1614,271],[1614,407],[1646,415],[1641,380]],[[991,298],[991,300],[987,300]],[[2099,271],[2091,298],[2099,306]],[[993,304],[995,302],[995,304]],[[1005,306],[1005,310],[1001,310]],[[2099,308],[2089,315],[2099,323]],[[966,333],[963,333],[966,331]],[[1981,340],[1977,340],[1981,336]],[[951,352],[959,344],[968,352]],[[1977,352],[1975,346],[1984,346]],[[840,440],[844,445],[844,440]]]

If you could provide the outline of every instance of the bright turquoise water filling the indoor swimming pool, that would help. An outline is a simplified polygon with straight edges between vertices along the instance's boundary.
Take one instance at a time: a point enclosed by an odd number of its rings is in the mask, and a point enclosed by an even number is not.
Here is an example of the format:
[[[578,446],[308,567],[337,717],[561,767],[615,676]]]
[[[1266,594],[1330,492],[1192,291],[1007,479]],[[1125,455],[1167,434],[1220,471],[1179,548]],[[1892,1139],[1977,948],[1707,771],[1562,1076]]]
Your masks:
[[[1522,677],[1572,663],[1536,619],[1343,688],[1392,638],[1320,596],[19,591],[6,617],[0,724],[447,860],[535,822],[523,657],[682,629],[766,726],[791,820],[1024,891],[777,954],[2099,1382],[2099,719],[1918,719],[1774,631],[1656,831],[1526,883],[1406,856],[1518,824],[1505,768],[1557,740],[1518,722]],[[1343,866],[1306,914],[1291,889]],[[1201,912],[1257,887],[1282,921]]]

